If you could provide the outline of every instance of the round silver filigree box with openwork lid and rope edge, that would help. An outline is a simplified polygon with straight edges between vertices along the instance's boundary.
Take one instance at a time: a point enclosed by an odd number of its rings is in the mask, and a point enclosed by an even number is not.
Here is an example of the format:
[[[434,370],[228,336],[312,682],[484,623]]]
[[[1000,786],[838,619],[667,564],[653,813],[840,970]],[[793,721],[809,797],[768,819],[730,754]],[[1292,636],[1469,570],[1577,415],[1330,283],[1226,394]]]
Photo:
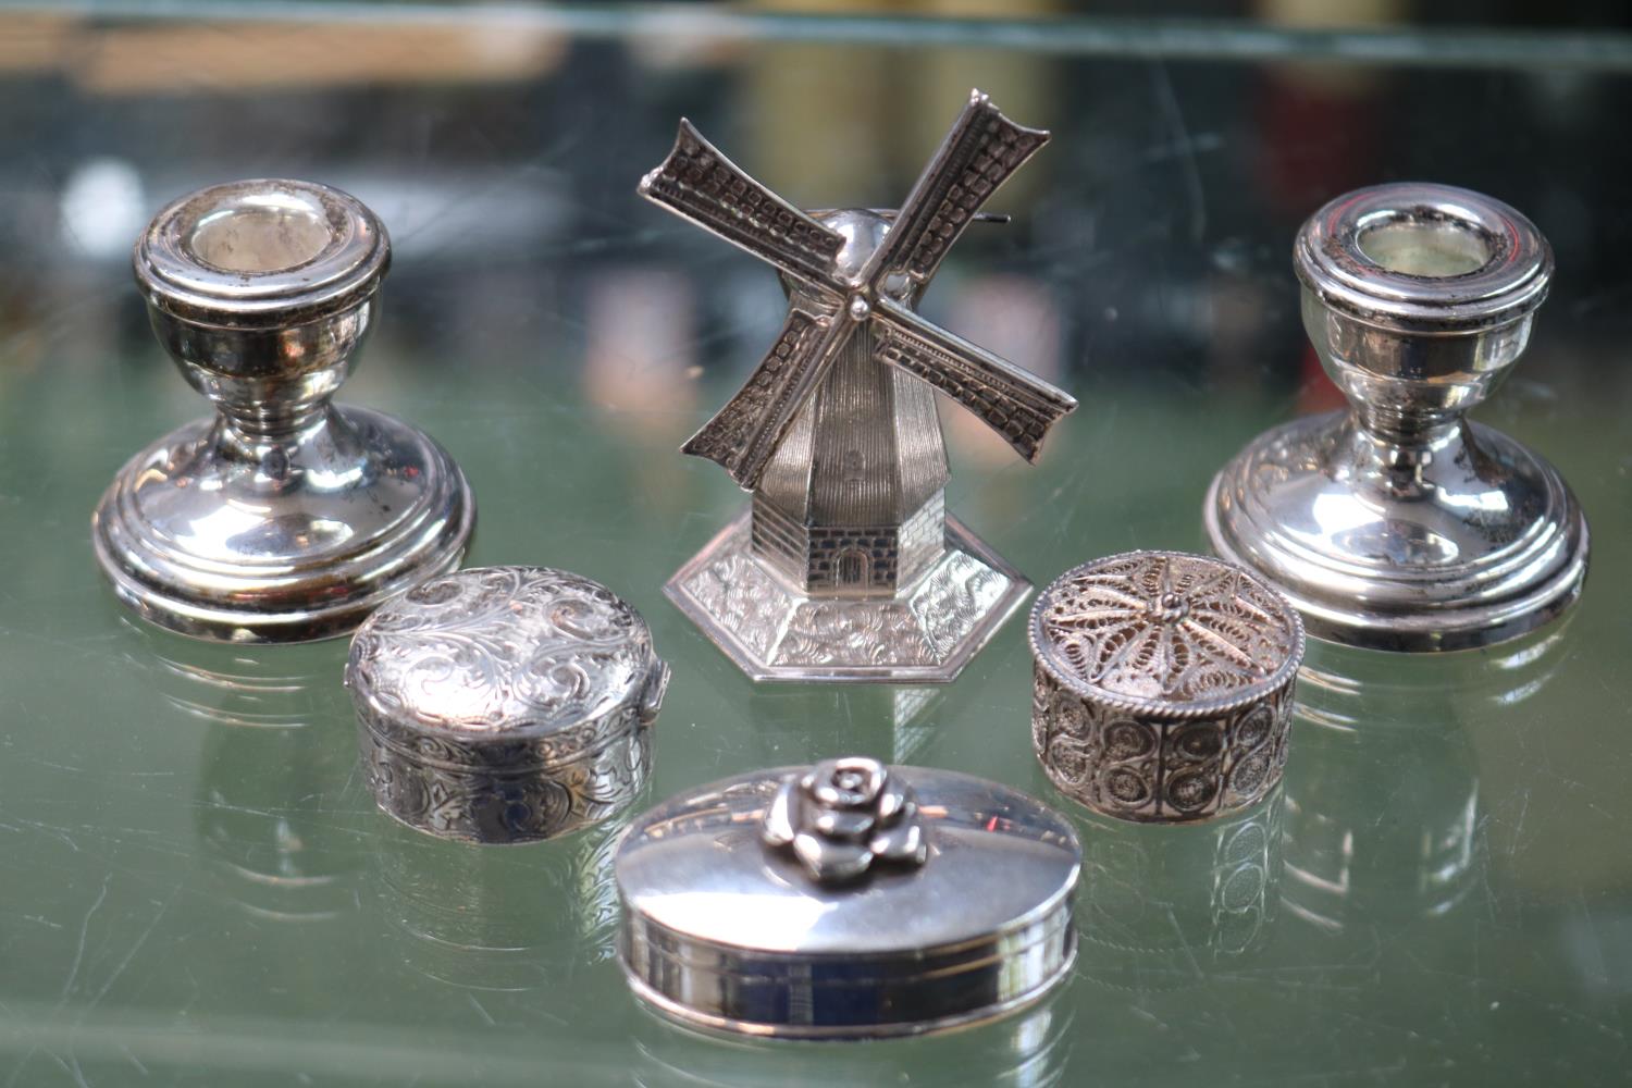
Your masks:
[[[1069,798],[1131,820],[1257,804],[1286,767],[1304,626],[1265,579],[1129,551],[1036,599],[1031,745]]]

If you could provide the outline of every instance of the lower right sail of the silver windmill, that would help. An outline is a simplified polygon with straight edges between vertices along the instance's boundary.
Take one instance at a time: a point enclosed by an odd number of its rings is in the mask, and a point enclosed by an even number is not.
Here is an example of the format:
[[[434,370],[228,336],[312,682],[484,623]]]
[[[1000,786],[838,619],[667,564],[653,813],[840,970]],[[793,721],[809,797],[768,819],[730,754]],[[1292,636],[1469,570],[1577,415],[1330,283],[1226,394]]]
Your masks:
[[[873,357],[929,382],[986,422],[1020,457],[1036,462],[1048,429],[1075,409],[1074,396],[891,299],[873,308]]]

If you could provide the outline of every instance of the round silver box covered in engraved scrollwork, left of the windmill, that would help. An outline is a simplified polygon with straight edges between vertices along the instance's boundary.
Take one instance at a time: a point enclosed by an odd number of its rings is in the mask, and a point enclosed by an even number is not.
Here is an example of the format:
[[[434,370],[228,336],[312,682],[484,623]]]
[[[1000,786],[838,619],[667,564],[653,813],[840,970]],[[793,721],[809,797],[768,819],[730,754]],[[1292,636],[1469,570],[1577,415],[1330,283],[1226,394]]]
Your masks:
[[[635,608],[529,566],[424,582],[369,617],[346,664],[380,807],[481,843],[552,838],[627,807],[667,682]]]

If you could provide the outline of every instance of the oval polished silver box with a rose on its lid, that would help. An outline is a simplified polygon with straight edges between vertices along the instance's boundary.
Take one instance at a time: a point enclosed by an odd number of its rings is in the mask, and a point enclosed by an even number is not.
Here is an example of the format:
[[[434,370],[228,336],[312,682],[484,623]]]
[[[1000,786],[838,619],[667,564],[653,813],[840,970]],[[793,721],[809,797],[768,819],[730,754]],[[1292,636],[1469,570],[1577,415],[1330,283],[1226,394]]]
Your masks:
[[[614,856],[635,993],[694,1028],[922,1034],[1020,1010],[1075,958],[1071,824],[984,778],[837,759],[690,789]]]

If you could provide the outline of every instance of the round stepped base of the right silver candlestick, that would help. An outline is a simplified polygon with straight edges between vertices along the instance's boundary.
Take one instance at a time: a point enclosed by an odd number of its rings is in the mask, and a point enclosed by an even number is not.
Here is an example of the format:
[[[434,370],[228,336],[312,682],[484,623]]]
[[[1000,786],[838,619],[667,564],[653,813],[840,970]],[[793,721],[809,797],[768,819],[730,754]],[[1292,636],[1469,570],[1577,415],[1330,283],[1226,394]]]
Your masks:
[[[1554,620],[1586,579],[1586,519],[1559,471],[1467,421],[1402,450],[1348,413],[1297,419],[1224,467],[1203,515],[1219,556],[1351,646],[1490,646]]]

